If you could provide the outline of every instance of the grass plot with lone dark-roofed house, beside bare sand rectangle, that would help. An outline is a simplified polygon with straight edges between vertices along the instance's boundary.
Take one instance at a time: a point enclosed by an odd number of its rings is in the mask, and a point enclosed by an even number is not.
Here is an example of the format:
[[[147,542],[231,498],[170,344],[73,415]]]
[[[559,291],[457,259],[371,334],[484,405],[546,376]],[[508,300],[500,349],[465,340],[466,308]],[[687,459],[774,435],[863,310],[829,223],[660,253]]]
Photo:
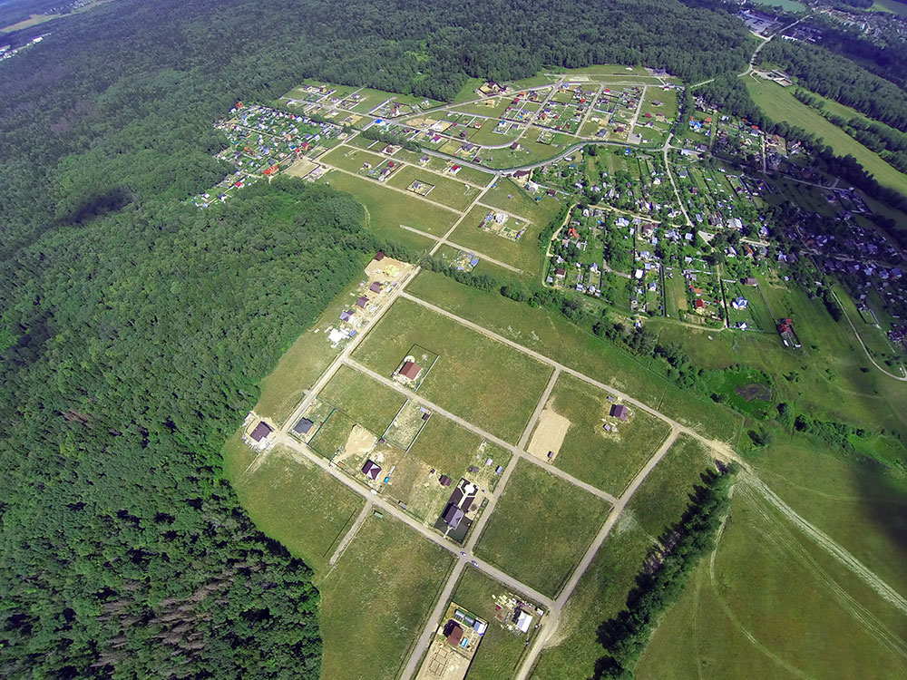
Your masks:
[[[633,406],[629,407],[629,419],[620,421],[610,416],[614,403],[598,387],[561,374],[549,405],[571,423],[554,464],[579,480],[619,496],[658,450],[670,427]],[[606,431],[605,425],[611,430]],[[540,422],[533,439],[541,426]]]

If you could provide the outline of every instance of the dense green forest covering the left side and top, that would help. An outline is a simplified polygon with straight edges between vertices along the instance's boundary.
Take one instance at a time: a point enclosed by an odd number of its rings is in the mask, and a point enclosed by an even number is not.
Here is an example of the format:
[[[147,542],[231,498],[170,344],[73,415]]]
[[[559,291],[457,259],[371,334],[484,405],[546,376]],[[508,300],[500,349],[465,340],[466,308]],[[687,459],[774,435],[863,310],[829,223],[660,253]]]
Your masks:
[[[354,199],[297,180],[187,205],[229,171],[212,121],[305,77],[696,82],[751,39],[676,0],[116,0],[48,25],[0,63],[0,675],[315,678],[311,572],[219,450],[376,244]]]

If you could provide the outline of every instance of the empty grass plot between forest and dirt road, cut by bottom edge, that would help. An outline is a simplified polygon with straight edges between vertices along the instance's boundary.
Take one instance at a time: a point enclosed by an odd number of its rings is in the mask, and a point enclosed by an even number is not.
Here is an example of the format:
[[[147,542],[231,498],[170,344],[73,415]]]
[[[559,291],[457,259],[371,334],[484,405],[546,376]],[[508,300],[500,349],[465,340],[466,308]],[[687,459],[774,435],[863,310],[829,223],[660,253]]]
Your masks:
[[[369,517],[318,584],[322,676],[397,677],[452,562],[446,550],[402,522]]]

